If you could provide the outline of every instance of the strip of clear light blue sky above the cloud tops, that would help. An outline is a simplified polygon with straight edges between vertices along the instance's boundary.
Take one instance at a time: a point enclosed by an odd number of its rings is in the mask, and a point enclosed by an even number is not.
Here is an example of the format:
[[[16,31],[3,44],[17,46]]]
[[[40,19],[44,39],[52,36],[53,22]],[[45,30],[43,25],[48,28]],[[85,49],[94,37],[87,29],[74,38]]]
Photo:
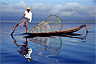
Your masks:
[[[64,5],[66,3],[77,2],[82,5],[93,5],[95,0],[1,0],[1,2],[5,2],[8,4],[15,4],[20,1],[24,1],[27,4],[43,3],[43,4]]]

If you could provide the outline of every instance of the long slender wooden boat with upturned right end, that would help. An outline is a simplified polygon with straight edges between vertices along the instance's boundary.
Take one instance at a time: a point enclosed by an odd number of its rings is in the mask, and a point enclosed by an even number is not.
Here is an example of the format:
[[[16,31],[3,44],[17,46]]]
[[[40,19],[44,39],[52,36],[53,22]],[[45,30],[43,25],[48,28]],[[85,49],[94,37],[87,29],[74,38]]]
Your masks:
[[[53,32],[42,32],[42,33],[24,33],[24,34],[28,34],[31,36],[58,36],[60,34],[69,34],[69,33],[73,33],[76,32],[80,29],[82,29],[83,27],[86,28],[86,32],[88,32],[86,24],[79,26],[79,27],[75,27],[75,28],[71,28],[71,29],[66,29],[66,30],[61,30],[61,31],[53,31]]]

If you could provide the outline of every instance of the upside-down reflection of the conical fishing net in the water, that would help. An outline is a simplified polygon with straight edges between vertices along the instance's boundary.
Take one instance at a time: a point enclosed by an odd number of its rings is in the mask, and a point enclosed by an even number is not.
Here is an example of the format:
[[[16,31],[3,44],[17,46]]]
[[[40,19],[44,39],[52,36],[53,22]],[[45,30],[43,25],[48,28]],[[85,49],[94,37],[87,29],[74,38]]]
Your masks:
[[[44,49],[44,50],[47,50],[50,52],[56,52],[62,46],[61,37],[58,37],[58,38],[56,38],[56,37],[34,37],[34,38],[30,38],[30,41],[46,47],[46,48],[42,47],[40,49]]]

